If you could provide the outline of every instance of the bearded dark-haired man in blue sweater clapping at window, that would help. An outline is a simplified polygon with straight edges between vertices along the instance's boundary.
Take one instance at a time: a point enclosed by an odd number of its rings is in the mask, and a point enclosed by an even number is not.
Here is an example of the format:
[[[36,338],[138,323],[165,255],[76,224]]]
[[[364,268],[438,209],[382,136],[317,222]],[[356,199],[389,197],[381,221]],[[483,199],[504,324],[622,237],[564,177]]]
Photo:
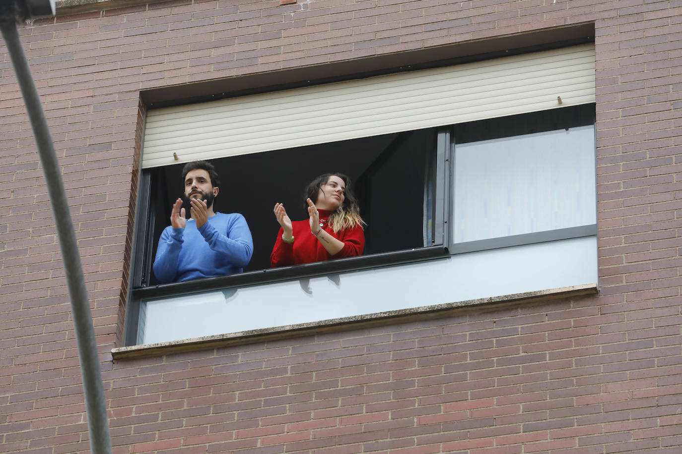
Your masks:
[[[254,246],[244,216],[213,212],[213,199],[220,180],[213,165],[193,161],[182,169],[183,199],[177,199],[170,213],[154,260],[154,274],[162,282],[177,282],[241,273],[251,260]]]

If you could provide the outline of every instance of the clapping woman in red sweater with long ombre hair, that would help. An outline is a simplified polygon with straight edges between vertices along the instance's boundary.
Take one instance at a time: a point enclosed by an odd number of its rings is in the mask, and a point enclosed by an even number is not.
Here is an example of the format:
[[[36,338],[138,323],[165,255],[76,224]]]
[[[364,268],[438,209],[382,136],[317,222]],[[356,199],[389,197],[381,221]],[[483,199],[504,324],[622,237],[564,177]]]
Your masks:
[[[270,255],[272,267],[361,255],[365,248],[357,201],[343,174],[324,174],[306,189],[308,218],[292,222],[284,205],[274,208],[280,232]]]

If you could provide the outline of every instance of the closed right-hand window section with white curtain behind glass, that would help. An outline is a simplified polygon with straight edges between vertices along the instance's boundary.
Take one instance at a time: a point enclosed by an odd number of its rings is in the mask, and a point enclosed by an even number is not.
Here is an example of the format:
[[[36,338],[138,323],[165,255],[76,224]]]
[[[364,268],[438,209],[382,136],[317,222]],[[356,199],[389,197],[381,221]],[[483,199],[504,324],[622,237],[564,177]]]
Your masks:
[[[593,116],[584,105],[456,125],[451,251],[594,234]]]

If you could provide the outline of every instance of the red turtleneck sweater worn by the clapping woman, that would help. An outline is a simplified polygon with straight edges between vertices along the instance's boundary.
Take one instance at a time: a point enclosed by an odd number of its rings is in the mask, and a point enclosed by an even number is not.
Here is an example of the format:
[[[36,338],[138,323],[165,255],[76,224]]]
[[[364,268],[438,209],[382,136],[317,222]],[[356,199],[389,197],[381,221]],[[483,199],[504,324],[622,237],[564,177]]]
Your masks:
[[[327,221],[329,214],[331,214],[329,210],[318,209],[318,212],[320,214],[320,221]],[[342,250],[336,253],[336,255],[329,255],[325,246],[310,232],[310,221],[308,219],[305,221],[293,221],[291,225],[294,236],[293,244],[282,240],[282,234],[284,233],[282,227],[280,227],[280,231],[277,233],[275,247],[270,255],[270,264],[273,268],[355,257],[356,255],[361,255],[365,248],[365,233],[359,225],[353,229],[340,230],[338,233],[334,233],[329,223],[325,223],[322,228],[329,235],[344,243]],[[317,228],[315,231],[317,231]]]

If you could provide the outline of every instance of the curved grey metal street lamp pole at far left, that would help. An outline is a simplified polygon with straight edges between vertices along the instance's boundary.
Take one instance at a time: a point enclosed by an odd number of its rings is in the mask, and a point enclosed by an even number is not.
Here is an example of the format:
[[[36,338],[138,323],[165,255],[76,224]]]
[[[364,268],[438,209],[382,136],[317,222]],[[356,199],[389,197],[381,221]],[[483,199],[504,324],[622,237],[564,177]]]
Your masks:
[[[19,33],[16,28],[17,19],[23,20],[28,14],[46,14],[46,5],[54,14],[54,0],[29,0],[27,3],[14,3],[14,0],[0,0],[0,29],[7,46],[16,79],[24,98],[38,154],[42,163],[45,182],[53,216],[57,226],[57,236],[61,247],[61,257],[64,263],[66,281],[71,299],[71,311],[74,318],[78,357],[80,358],[80,375],[83,378],[85,393],[85,407],[87,411],[88,430],[90,434],[90,449],[96,454],[111,453],[111,438],[109,423],[106,415],[106,400],[102,386],[102,372],[98,357],[95,329],[93,328],[90,304],[85,289],[83,267],[80,264],[78,242],[71,220],[71,213],[66,197],[66,191],[61,179],[61,168],[55,155],[55,146],[50,136],[47,120],[40,104],[38,91],[33,83],[33,76],[21,46]],[[36,9],[37,8],[37,9]],[[42,8],[42,10],[40,10]]]

